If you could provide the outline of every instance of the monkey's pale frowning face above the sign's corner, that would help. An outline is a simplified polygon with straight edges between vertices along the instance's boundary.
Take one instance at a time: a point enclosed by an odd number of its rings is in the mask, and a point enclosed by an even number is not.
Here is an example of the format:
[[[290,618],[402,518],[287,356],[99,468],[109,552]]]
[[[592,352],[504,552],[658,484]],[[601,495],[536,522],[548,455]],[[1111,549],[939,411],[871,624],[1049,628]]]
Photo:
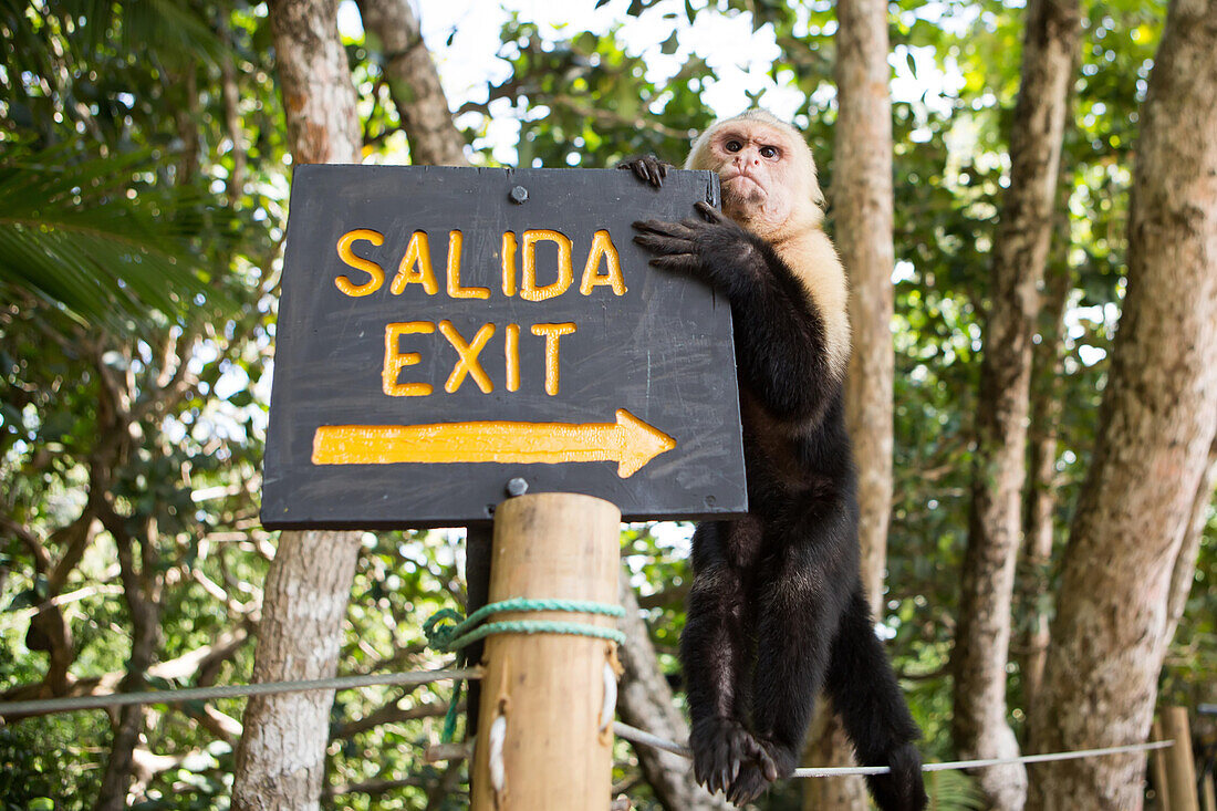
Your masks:
[[[753,230],[780,228],[804,184],[783,130],[762,122],[729,122],[711,136],[710,157],[723,184],[723,212]]]

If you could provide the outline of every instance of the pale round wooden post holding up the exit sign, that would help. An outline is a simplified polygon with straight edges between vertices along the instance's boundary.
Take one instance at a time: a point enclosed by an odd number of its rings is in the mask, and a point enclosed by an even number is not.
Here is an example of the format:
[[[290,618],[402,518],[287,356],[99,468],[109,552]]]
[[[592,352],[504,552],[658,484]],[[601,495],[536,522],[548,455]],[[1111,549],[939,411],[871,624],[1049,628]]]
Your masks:
[[[540,493],[504,502],[494,516],[490,602],[616,604],[619,525],[621,511],[590,496]],[[510,620],[615,625],[607,616],[557,611],[492,619]],[[486,641],[483,661],[472,810],[608,811],[612,727],[602,731],[600,716],[615,643],[497,633]],[[492,757],[492,750],[500,756]]]

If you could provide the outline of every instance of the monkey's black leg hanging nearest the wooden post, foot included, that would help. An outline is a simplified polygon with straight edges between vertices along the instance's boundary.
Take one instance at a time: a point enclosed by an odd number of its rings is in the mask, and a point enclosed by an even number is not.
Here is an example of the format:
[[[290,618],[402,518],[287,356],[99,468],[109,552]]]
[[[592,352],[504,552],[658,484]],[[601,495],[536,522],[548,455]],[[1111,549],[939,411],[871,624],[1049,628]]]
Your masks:
[[[702,524],[694,535],[694,581],[680,634],[694,777],[727,790],[744,762],[767,757],[744,721],[751,638],[747,570],[729,543],[746,538],[750,519]]]

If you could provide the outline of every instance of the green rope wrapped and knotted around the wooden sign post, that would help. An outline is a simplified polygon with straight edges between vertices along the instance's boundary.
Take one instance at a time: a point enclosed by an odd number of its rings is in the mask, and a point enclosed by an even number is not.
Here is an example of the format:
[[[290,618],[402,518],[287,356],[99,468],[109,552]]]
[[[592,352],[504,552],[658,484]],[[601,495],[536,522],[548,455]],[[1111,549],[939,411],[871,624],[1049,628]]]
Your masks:
[[[529,600],[515,597],[499,603],[483,605],[478,610],[462,617],[460,611],[453,609],[441,609],[431,615],[422,623],[422,632],[427,634],[427,643],[436,650],[460,650],[478,639],[484,639],[492,633],[566,633],[579,637],[593,637],[596,639],[608,639],[617,644],[626,643],[626,634],[616,628],[601,628],[600,626],[585,622],[563,622],[559,620],[506,620],[504,622],[487,622],[482,620],[504,611],[571,611],[573,614],[599,614],[601,616],[626,616],[626,610],[619,605],[607,603],[591,603],[588,600]],[[447,625],[441,625],[447,622]],[[481,626],[481,627],[477,627]],[[453,700],[448,705],[448,715],[444,716],[444,729],[442,740],[449,743],[456,732],[456,704],[460,701],[461,682],[456,682],[453,690]]]

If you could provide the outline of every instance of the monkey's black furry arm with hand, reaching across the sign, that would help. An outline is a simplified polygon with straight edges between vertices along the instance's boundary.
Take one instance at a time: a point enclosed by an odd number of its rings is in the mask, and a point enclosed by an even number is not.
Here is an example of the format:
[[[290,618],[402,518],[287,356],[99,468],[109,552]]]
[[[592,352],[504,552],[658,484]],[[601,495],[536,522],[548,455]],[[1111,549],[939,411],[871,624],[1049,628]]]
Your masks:
[[[700,219],[634,223],[651,264],[699,276],[731,303],[745,381],[780,419],[820,414],[831,380],[824,319],[768,242],[705,202]]]

